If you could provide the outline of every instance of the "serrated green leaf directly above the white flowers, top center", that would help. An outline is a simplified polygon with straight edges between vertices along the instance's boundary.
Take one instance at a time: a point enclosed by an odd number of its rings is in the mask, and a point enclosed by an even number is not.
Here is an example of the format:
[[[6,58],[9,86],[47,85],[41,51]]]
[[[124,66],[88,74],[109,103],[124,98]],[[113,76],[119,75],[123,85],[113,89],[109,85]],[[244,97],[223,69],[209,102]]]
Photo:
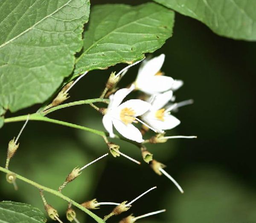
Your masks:
[[[174,12],[155,3],[94,6],[75,74],[138,61],[172,36],[173,25]]]

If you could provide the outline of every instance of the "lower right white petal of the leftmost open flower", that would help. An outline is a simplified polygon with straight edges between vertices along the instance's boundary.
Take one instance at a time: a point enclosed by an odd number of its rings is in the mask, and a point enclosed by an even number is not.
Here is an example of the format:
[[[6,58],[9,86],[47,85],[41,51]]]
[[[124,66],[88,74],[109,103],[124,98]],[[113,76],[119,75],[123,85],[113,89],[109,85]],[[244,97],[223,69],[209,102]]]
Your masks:
[[[125,138],[131,139],[139,143],[144,141],[142,138],[142,134],[140,133],[140,130],[138,130],[132,124],[125,125],[118,119],[113,119],[112,121],[116,130]]]

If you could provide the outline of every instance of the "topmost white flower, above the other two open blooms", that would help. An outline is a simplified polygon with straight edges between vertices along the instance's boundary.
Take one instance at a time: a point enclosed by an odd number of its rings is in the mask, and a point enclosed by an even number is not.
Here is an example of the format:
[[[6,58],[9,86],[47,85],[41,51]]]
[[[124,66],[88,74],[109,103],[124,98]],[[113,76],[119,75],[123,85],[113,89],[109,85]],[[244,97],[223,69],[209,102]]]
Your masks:
[[[167,90],[177,90],[183,85],[183,81],[173,80],[171,77],[164,76],[160,71],[164,59],[165,55],[161,54],[158,57],[143,61],[134,82],[137,90],[153,95]]]

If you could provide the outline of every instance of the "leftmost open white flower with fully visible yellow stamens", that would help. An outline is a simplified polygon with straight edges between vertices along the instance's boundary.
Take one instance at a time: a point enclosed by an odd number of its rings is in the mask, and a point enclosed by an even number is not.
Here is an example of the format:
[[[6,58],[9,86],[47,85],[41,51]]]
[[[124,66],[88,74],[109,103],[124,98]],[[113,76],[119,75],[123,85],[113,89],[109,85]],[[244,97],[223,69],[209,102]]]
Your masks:
[[[130,88],[123,88],[111,95],[107,112],[103,116],[102,122],[110,137],[114,137],[113,125],[116,130],[125,138],[136,142],[143,142],[142,134],[133,122],[140,121],[137,116],[141,116],[150,108],[150,103],[140,99],[131,99],[121,104],[122,100],[133,91],[134,84]]]

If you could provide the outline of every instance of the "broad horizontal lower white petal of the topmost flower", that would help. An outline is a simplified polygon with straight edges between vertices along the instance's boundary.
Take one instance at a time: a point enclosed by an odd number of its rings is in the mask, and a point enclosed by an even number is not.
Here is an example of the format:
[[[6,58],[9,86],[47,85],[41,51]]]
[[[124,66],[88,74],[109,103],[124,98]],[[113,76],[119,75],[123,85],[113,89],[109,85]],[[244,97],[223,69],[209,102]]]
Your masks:
[[[142,85],[136,85],[136,87],[147,93],[156,94],[170,90],[173,84],[173,79],[167,76],[156,75],[151,78],[146,78]]]

